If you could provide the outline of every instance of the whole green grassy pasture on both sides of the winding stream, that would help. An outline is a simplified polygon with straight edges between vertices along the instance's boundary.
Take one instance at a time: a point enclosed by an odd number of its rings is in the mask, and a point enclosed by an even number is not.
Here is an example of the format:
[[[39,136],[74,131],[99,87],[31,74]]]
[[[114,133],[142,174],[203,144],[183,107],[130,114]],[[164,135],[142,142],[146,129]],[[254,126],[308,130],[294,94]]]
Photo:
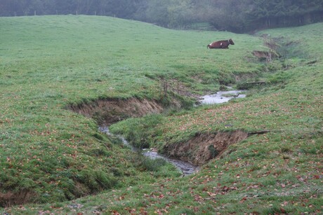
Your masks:
[[[0,29],[0,213],[322,213],[322,23],[251,36],[54,15],[0,18]],[[228,50],[206,49],[230,38]],[[269,50],[268,40],[284,56],[260,62],[252,51]],[[225,85],[266,85],[227,104],[130,118],[112,132],[160,151],[201,133],[269,132],[181,178],[67,109],[132,97],[166,105],[162,80],[178,80],[180,95],[176,86],[169,95],[183,100]],[[24,202],[34,204],[13,205]]]

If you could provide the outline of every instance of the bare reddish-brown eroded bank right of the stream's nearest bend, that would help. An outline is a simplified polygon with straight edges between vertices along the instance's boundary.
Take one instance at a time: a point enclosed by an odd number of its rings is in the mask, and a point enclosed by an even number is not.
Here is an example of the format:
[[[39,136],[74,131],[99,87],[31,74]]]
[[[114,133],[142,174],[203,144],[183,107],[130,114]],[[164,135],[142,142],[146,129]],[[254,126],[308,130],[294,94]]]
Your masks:
[[[218,132],[217,134],[198,134],[187,142],[166,146],[166,153],[173,158],[203,165],[221,155],[231,144],[248,137],[246,132]]]

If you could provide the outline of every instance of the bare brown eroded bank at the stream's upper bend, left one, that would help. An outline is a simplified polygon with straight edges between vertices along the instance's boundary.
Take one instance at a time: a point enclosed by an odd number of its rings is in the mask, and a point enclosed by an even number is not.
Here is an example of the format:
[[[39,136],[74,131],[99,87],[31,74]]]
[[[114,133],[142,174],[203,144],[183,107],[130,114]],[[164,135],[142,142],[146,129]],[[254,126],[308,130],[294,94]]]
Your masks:
[[[111,125],[131,117],[141,117],[149,113],[162,113],[164,108],[154,100],[148,99],[98,99],[95,102],[70,105],[76,113],[94,118],[100,125]]]

